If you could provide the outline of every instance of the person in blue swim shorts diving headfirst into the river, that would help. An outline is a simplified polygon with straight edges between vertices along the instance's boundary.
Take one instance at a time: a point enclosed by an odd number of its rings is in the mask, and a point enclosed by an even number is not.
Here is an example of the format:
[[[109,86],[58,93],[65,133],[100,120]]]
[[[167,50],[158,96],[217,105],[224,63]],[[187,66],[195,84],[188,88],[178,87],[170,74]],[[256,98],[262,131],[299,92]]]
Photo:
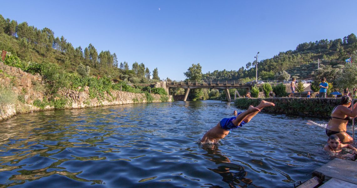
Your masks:
[[[238,113],[237,117],[223,118],[215,127],[211,128],[205,135],[203,135],[201,143],[217,143],[218,140],[226,137],[230,130],[242,127],[244,124],[250,122],[250,120],[263,108],[273,106],[275,106],[274,103],[262,100],[256,107],[250,105],[245,112]]]

